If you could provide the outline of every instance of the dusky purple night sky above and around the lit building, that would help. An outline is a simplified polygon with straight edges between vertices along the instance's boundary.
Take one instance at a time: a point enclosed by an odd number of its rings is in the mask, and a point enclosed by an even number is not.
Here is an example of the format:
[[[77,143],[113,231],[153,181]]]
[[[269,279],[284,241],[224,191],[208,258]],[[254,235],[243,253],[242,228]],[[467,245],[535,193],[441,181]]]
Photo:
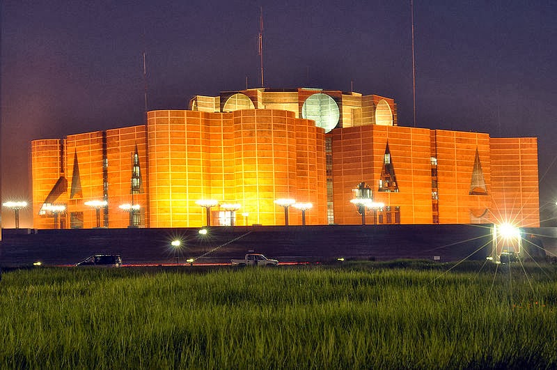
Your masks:
[[[266,87],[353,81],[414,125],[409,0],[3,0],[2,201],[31,201],[31,140],[144,123],[143,50],[148,109],[259,87],[260,6]],[[416,126],[538,137],[542,220],[557,217],[556,19],[554,1],[414,3]]]

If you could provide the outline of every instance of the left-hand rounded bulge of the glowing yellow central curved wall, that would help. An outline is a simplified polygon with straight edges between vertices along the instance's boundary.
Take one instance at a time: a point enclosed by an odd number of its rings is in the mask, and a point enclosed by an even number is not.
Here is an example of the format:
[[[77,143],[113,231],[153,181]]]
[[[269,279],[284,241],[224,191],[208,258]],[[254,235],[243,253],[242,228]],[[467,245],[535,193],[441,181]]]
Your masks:
[[[207,122],[200,111],[148,112],[151,227],[201,226],[198,199],[211,197]]]

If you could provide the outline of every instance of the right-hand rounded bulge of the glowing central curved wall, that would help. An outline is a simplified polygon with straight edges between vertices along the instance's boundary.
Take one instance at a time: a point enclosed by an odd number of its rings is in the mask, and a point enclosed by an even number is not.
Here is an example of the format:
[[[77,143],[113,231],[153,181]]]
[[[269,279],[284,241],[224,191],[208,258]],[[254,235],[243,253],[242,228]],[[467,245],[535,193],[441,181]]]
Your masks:
[[[292,198],[313,203],[306,224],[326,224],[324,133],[313,121],[290,111],[234,113],[235,193],[250,223],[284,224],[284,208],[274,201]],[[301,211],[289,210],[289,224],[301,224]]]

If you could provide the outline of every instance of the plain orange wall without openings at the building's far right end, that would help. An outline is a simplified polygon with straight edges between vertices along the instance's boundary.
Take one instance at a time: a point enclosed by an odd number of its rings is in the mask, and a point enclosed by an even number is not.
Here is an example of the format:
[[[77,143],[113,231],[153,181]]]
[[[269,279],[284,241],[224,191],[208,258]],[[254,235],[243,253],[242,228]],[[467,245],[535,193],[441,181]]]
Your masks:
[[[539,227],[538,139],[491,138],[490,145],[494,219]]]

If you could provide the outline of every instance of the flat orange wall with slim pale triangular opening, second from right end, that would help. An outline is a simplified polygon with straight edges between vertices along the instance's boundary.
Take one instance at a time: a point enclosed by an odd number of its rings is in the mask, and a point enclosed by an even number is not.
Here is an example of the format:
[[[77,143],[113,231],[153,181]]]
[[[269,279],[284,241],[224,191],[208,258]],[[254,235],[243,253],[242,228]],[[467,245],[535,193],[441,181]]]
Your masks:
[[[437,183],[439,223],[470,224],[492,222],[492,179],[489,135],[476,132],[434,130],[437,142]],[[485,194],[470,194],[476,151]],[[477,193],[481,193],[476,190]]]

